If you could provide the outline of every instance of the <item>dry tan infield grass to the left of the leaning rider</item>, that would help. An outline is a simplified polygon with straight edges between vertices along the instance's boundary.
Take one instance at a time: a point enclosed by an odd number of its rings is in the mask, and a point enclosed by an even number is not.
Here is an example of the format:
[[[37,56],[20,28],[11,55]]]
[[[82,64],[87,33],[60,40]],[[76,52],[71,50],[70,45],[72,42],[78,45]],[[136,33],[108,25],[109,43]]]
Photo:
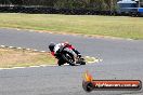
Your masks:
[[[55,58],[49,53],[0,49],[0,68],[53,65]]]

